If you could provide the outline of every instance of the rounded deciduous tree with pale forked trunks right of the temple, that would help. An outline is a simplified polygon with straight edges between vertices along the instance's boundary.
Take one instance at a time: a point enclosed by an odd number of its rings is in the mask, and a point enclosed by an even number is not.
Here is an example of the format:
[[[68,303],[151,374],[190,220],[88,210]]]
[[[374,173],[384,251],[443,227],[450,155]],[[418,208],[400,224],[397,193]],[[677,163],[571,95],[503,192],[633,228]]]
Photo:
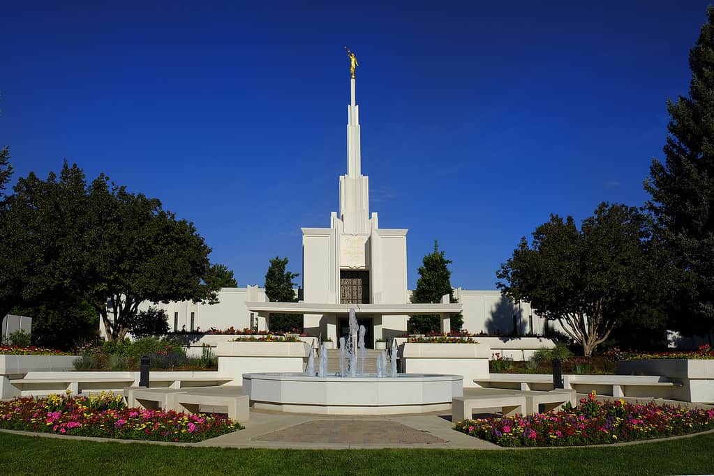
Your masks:
[[[634,207],[602,203],[580,230],[573,217],[551,215],[501,265],[497,286],[558,321],[590,356],[623,316],[653,295],[649,238],[646,217]]]

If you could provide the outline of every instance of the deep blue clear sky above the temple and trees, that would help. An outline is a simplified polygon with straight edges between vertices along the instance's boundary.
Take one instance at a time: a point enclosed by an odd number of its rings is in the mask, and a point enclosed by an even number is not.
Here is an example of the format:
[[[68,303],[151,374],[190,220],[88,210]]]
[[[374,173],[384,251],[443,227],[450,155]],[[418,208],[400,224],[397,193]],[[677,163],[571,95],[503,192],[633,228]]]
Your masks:
[[[301,272],[346,173],[347,45],[371,211],[409,229],[411,288],[438,239],[465,289],[551,212],[647,200],[707,4],[58,3],[0,7],[15,178],[76,162],[194,222],[240,286]]]

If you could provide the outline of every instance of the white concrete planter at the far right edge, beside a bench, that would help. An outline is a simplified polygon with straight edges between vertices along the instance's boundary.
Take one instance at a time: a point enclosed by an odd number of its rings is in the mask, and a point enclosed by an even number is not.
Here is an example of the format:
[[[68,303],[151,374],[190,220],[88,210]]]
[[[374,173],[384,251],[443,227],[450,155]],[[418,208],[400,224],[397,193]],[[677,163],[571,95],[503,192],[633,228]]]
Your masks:
[[[674,390],[677,400],[714,402],[714,360],[646,359],[618,362],[622,375],[665,376],[681,381]]]

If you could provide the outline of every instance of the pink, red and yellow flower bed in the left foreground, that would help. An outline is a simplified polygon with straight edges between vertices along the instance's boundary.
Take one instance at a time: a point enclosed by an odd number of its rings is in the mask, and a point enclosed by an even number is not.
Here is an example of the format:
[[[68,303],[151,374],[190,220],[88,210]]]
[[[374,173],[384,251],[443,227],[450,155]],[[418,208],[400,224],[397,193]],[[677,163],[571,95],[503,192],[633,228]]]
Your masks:
[[[215,415],[126,408],[121,395],[49,395],[0,401],[0,428],[123,440],[193,443],[243,428]]]

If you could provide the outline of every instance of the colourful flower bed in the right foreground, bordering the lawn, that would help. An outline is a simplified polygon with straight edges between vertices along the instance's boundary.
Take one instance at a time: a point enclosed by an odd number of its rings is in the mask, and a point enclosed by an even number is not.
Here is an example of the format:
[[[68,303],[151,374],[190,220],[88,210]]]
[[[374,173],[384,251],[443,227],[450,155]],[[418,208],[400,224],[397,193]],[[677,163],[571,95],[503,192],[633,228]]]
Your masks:
[[[576,408],[558,413],[480,418],[458,422],[455,430],[506,447],[574,446],[685,435],[714,428],[714,410],[672,405],[600,402],[595,393]]]

